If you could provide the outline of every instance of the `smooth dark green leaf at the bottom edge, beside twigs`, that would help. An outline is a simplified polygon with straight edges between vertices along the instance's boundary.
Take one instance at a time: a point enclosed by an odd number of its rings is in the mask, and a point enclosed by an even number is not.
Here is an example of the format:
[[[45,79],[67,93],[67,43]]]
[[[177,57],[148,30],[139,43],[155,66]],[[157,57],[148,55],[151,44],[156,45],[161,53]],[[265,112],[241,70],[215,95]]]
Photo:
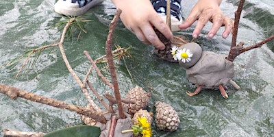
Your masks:
[[[65,129],[56,130],[49,134],[46,134],[44,137],[98,137],[101,134],[99,127],[90,126],[90,125],[77,125],[74,127],[68,127]]]

